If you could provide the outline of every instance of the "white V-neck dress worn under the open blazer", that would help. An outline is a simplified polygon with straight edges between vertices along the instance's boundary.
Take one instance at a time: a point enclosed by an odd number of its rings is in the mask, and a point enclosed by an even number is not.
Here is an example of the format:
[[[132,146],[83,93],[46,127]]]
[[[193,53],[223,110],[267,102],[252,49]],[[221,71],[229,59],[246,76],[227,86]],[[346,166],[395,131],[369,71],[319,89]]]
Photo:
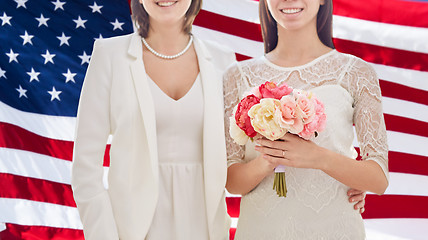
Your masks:
[[[179,100],[151,79],[159,154],[159,201],[147,240],[208,239],[202,128],[203,92],[198,75]]]

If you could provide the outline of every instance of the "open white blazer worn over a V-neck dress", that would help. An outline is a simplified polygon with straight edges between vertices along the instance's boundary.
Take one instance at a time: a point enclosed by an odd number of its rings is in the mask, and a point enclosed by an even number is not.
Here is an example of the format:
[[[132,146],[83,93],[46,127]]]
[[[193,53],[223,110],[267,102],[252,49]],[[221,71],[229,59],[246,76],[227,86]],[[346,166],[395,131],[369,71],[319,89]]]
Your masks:
[[[195,38],[204,94],[203,163],[210,239],[228,239],[222,75],[233,52]],[[156,120],[133,33],[95,42],[80,97],[72,188],[87,240],[143,240],[158,201]],[[103,156],[109,135],[109,188]]]

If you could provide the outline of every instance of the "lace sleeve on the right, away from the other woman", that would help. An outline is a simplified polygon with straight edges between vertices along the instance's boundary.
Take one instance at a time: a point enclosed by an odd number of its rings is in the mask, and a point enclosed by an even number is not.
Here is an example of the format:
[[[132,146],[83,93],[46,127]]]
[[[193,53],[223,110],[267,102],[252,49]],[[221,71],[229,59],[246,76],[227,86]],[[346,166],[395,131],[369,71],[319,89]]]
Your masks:
[[[389,180],[386,127],[376,72],[368,63],[355,59],[347,75],[354,98],[353,121],[361,157],[378,163]]]

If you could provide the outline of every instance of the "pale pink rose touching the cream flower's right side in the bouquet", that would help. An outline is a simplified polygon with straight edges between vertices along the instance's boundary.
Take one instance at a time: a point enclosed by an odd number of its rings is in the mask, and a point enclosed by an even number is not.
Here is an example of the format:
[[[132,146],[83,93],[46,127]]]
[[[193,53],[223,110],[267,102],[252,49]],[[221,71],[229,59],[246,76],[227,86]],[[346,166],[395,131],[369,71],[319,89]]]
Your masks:
[[[298,115],[296,100],[293,96],[287,95],[281,98],[281,111],[275,116],[282,128],[297,134],[303,130],[303,121]]]

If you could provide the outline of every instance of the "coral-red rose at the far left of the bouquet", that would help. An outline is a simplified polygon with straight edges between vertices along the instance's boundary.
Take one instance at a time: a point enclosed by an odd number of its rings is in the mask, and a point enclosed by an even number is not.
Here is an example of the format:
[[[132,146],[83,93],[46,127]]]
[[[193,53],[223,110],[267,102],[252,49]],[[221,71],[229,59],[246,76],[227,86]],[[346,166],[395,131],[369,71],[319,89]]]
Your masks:
[[[247,136],[249,137],[255,137],[257,135],[257,132],[251,125],[251,119],[248,116],[248,111],[252,106],[258,103],[260,103],[260,99],[255,95],[251,94],[242,99],[241,102],[238,104],[238,108],[236,109],[236,125],[238,125],[238,127],[242,129],[242,131],[244,131],[245,134],[247,134]]]

